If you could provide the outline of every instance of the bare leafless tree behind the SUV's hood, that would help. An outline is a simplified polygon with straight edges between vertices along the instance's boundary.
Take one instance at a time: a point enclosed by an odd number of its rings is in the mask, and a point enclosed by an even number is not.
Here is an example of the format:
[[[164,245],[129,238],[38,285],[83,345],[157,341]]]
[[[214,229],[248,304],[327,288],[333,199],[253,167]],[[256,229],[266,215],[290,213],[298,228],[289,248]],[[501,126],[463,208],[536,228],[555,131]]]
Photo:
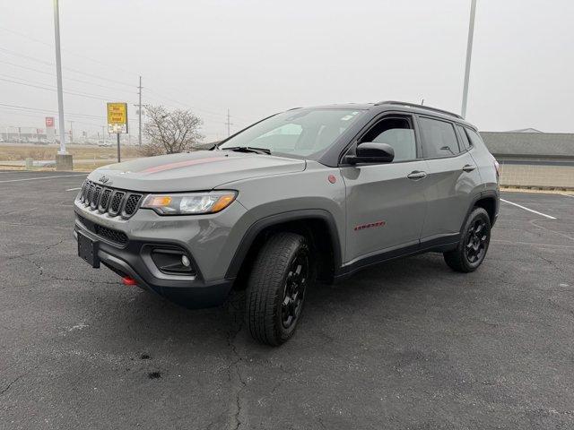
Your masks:
[[[146,106],[148,120],[143,133],[149,142],[143,145],[145,156],[175,154],[193,150],[204,136],[199,133],[203,121],[190,110],[167,110],[162,106]]]

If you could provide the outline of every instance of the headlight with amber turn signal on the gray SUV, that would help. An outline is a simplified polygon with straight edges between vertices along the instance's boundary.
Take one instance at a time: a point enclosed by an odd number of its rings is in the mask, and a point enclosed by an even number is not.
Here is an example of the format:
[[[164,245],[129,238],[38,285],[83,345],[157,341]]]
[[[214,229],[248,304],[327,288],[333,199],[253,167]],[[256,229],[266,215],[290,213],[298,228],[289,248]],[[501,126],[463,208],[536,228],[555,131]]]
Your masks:
[[[145,197],[141,207],[152,209],[160,215],[215,213],[227,208],[236,196],[235,191],[150,194]]]

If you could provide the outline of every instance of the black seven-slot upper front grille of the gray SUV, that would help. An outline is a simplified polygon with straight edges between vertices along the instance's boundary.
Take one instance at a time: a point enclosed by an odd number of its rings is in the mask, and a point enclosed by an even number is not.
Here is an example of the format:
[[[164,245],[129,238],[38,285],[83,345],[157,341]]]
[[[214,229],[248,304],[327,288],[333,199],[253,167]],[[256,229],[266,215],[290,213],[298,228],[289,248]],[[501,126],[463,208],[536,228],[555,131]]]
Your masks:
[[[141,193],[117,190],[86,180],[78,200],[91,211],[98,210],[100,213],[108,213],[110,217],[120,216],[127,219],[135,214],[142,197]]]

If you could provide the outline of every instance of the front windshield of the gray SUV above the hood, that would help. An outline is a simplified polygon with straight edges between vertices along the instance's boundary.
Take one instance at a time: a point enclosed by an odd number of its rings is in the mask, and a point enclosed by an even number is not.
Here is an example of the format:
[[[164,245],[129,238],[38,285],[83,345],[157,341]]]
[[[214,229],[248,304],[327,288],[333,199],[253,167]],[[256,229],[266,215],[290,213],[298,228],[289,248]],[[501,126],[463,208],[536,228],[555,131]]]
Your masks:
[[[361,116],[357,109],[297,109],[267,118],[231,137],[219,149],[252,147],[313,159]]]

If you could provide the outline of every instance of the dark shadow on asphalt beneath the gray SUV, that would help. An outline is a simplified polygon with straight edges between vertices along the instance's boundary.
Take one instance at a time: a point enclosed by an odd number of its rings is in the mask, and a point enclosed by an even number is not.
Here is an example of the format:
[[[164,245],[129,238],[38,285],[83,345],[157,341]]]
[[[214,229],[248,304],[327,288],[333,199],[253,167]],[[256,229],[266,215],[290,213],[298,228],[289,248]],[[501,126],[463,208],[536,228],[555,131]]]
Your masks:
[[[429,254],[382,263],[335,285],[317,283],[308,292],[305,325],[319,321],[309,314],[352,314],[372,306],[374,300],[378,306],[384,306],[386,298],[397,291],[416,297],[429,288],[430,279],[445,273],[448,267],[442,258]],[[229,344],[239,331],[245,330],[244,291],[232,292],[221,306],[199,310],[189,310],[145,291],[137,291],[128,302],[112,302],[116,305],[107,309],[109,317],[100,321],[100,331],[113,337],[144,338],[153,345],[166,338],[174,344]]]

